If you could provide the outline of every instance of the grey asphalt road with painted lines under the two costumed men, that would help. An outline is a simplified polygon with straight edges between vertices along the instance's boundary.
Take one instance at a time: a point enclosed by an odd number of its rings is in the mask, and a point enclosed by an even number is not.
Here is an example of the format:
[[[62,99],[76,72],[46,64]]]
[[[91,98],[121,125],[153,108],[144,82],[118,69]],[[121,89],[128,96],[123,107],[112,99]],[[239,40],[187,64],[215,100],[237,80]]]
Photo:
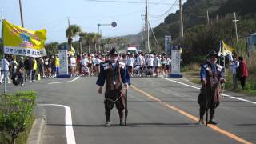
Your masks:
[[[104,95],[95,82],[94,77],[51,78],[8,85],[7,92],[38,92],[38,104],[46,109],[46,144],[256,143],[255,97],[225,92],[250,102],[226,96],[216,110],[218,126],[199,126],[199,86],[184,78],[132,78],[127,126],[118,126],[114,108],[112,125],[104,127]]]

